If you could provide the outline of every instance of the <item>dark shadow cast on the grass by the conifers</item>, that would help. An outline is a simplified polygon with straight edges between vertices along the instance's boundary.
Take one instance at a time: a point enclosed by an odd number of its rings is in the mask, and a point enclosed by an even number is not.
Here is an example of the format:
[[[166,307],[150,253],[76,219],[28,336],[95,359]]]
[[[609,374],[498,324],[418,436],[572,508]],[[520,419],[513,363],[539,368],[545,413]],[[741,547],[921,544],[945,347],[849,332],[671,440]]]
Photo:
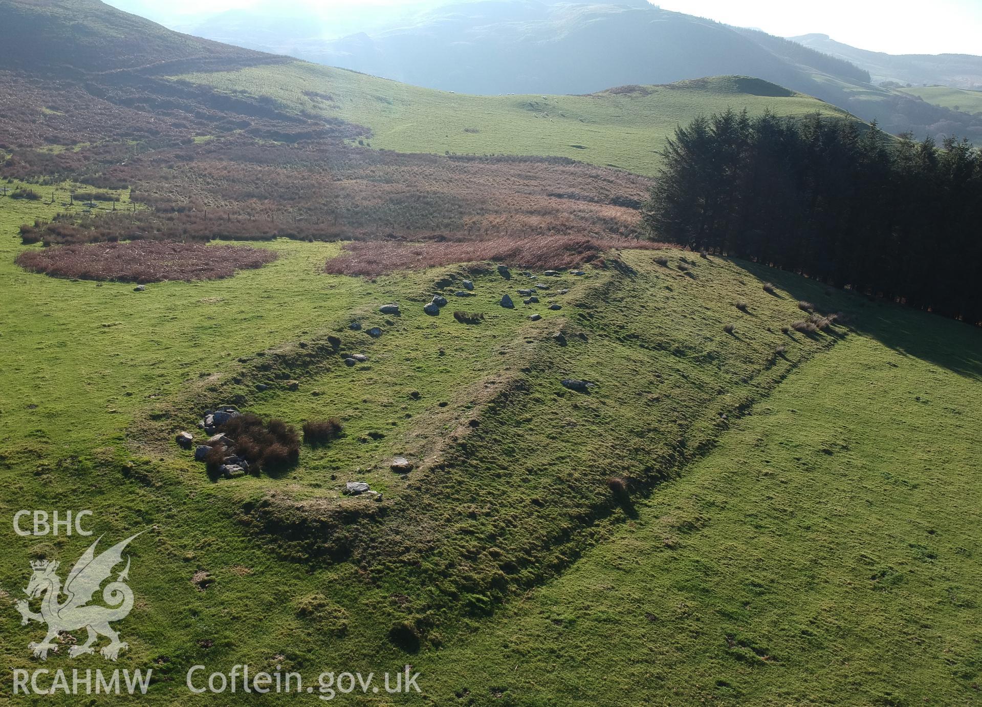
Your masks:
[[[830,288],[795,273],[746,260],[733,262],[754,277],[773,282],[792,299],[815,303],[823,314],[843,312],[846,325],[872,337],[898,354],[948,368],[958,375],[982,380],[982,328],[884,299],[869,299]],[[791,324],[791,322],[788,322]],[[835,336],[841,337],[837,332]]]

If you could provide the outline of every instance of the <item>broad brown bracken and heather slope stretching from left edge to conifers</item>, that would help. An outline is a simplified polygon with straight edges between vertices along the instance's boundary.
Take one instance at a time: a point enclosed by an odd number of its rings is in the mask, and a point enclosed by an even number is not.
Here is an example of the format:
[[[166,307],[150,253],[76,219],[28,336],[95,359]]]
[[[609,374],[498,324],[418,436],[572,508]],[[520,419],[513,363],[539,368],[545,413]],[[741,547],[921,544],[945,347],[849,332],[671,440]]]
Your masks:
[[[539,242],[518,244],[553,236],[640,237],[639,207],[651,186],[643,177],[566,158],[355,147],[345,140],[370,131],[287,114],[262,96],[150,76],[135,81],[100,75],[82,86],[0,72],[0,106],[0,157],[9,153],[0,159],[0,178],[41,184],[72,178],[95,190],[129,187],[132,200],[149,207],[112,212],[103,204],[89,212],[52,187],[63,213],[22,227],[25,244],[503,239],[495,246],[457,245],[463,253],[434,251],[431,257],[437,263],[488,259],[468,248],[490,247],[495,259],[563,267],[585,262],[597,248],[576,252],[551,245],[536,255]],[[40,195],[46,199],[49,191]],[[384,252],[379,257],[384,260]],[[76,270],[66,275],[80,276]]]

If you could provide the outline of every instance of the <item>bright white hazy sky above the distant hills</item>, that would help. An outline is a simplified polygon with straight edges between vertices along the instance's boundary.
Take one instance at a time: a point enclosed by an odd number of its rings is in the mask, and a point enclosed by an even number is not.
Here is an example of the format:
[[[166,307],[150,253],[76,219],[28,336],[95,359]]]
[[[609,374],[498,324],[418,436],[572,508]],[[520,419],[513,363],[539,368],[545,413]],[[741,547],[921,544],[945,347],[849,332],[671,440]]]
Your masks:
[[[109,4],[130,12],[157,20],[167,17],[172,21],[202,12],[248,7],[258,1],[108,0]],[[314,6],[330,13],[355,5],[412,2],[288,0],[286,6],[293,9]],[[821,32],[846,44],[891,54],[982,54],[982,0],[661,0],[655,4],[666,10],[699,15],[728,25],[758,27],[780,36]]]

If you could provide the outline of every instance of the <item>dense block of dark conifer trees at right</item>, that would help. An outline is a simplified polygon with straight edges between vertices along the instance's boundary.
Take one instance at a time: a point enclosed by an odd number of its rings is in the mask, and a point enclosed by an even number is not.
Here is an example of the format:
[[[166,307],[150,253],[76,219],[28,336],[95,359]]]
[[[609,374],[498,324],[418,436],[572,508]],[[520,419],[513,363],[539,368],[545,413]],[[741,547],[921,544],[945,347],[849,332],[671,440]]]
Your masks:
[[[660,240],[982,322],[982,155],[966,141],[728,111],[664,156],[644,208]]]

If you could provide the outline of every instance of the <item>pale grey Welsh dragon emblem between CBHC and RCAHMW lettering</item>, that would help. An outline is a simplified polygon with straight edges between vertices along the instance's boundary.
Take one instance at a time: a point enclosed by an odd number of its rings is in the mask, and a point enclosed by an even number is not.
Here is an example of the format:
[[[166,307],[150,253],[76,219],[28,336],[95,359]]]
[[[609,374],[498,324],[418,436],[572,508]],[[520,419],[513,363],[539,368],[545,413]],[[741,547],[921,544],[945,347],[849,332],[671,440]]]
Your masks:
[[[123,551],[126,546],[141,533],[136,533],[123,542],[113,545],[111,548],[95,557],[95,546],[99,544],[101,537],[88,546],[79,562],[75,564],[72,571],[68,573],[65,588],[62,589],[61,577],[58,576],[58,563],[41,560],[30,563],[30,568],[34,571],[27,582],[24,593],[30,599],[43,597],[41,599],[40,614],[30,611],[27,599],[17,602],[17,610],[20,612],[22,625],[35,621],[39,624],[48,625],[48,633],[40,643],[31,642],[27,645],[35,658],[46,660],[48,651],[58,650],[58,646],[53,643],[58,634],[62,631],[74,631],[84,628],[88,631],[88,639],[82,645],[74,645],[69,648],[68,654],[72,658],[81,655],[94,653],[92,644],[95,643],[100,635],[109,638],[109,645],[102,648],[103,658],[116,660],[121,650],[128,648],[129,644],[120,640],[119,633],[113,630],[110,625],[125,619],[133,609],[133,590],[126,583],[130,574],[130,558],[127,557],[126,569],[121,571],[112,581],[102,590],[102,600],[110,607],[86,606],[92,600],[92,594],[105,581],[113,568],[123,562]],[[64,603],[59,603],[62,594],[68,598]]]

